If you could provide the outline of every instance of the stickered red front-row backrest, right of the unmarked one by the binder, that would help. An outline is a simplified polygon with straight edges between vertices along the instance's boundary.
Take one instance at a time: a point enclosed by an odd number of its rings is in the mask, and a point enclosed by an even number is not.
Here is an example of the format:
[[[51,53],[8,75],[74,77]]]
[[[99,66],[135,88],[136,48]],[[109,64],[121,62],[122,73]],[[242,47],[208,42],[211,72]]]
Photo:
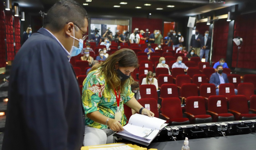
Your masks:
[[[187,97],[185,108],[186,112],[189,112],[194,116],[206,114],[204,100],[203,97],[200,96]]]

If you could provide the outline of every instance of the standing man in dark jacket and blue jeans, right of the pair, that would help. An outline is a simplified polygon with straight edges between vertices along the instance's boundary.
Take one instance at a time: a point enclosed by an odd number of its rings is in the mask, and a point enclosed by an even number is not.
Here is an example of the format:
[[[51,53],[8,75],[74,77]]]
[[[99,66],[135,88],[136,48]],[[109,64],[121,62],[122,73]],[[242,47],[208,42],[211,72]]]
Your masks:
[[[200,49],[200,58],[202,60],[203,55],[205,62],[208,62],[209,51],[211,49],[212,38],[209,36],[209,31],[205,31],[204,36],[200,39],[201,49]]]

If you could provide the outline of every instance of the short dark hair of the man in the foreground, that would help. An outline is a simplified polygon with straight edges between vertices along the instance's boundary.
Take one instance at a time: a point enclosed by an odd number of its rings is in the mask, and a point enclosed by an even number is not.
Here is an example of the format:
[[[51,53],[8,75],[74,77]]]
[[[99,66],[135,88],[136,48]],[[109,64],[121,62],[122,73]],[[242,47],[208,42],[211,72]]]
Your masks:
[[[85,26],[85,18],[88,19],[87,12],[79,3],[74,0],[59,0],[47,12],[45,27],[58,32],[67,23],[72,22],[81,28]]]

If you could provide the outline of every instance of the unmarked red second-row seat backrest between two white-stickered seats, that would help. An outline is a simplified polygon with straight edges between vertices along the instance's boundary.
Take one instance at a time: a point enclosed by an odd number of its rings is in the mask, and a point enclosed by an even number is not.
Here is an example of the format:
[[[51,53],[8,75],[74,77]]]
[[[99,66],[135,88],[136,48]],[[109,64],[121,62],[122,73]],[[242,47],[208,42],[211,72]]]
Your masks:
[[[181,86],[181,97],[198,96],[196,84],[183,84]]]

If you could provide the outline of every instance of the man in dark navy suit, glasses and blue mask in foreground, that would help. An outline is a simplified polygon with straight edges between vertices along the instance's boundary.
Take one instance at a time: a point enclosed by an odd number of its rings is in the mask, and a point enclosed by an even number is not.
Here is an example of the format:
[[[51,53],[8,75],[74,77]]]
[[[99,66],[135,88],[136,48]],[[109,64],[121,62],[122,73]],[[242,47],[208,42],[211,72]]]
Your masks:
[[[69,61],[81,53],[88,15],[76,1],[61,0],[44,21],[12,62],[3,150],[83,146],[85,112]]]

